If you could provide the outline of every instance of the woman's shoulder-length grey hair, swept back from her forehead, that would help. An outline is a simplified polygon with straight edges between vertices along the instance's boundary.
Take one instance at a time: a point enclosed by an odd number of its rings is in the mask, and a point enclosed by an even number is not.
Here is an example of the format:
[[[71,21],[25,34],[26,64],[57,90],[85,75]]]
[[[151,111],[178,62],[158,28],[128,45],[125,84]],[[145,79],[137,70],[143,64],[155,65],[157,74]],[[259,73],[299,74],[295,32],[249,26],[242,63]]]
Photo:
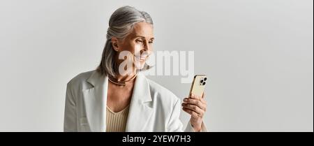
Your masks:
[[[109,28],[107,29],[107,41],[103,49],[103,56],[96,71],[102,75],[117,75],[118,66],[114,61],[114,56],[117,52],[112,47],[111,39],[112,37],[124,39],[133,31],[133,27],[137,22],[154,24],[148,13],[131,6],[118,8],[112,13],[109,20]]]

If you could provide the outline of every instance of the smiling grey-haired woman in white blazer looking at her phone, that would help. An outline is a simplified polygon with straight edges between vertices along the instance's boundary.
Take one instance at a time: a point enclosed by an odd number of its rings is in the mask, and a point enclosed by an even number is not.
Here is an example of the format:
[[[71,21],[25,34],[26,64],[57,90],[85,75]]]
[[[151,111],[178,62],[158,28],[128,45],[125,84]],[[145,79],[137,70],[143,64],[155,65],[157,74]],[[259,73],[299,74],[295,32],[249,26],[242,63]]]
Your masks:
[[[204,97],[190,95],[181,104],[140,73],[153,41],[148,13],[130,6],[114,11],[100,65],[68,82],[64,131],[184,131],[181,105],[191,115],[185,131],[206,131]],[[130,53],[121,57],[124,52]],[[125,63],[131,66],[125,69]]]

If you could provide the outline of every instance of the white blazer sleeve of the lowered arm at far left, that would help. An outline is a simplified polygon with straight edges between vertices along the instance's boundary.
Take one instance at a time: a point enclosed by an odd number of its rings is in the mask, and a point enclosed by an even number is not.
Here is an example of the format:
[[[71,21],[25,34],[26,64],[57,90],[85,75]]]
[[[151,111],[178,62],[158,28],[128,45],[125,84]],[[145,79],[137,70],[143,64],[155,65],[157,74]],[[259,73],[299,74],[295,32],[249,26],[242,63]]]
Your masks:
[[[71,82],[68,82],[66,86],[66,108],[64,110],[64,132],[76,132],[77,131],[77,118],[76,118],[76,103],[73,96],[73,90],[71,89]]]

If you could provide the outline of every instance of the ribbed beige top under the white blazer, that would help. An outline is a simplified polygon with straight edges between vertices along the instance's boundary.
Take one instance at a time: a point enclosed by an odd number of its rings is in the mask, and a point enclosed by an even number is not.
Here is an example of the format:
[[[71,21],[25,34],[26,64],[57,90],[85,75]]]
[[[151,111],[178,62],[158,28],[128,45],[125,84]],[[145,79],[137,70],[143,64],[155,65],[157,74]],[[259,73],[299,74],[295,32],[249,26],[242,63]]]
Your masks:
[[[130,105],[119,112],[112,112],[107,106],[106,112],[106,132],[126,131],[126,121]]]

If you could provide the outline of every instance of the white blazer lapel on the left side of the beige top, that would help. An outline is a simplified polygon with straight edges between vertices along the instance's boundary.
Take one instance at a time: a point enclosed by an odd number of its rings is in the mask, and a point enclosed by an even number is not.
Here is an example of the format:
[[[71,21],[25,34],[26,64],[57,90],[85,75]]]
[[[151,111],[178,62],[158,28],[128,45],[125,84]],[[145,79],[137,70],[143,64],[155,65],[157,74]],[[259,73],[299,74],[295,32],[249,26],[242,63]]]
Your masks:
[[[91,131],[100,132],[106,131],[106,105],[107,105],[107,76],[100,75],[97,71],[92,73],[87,80],[92,87],[91,89],[83,90],[85,110],[87,121]]]

